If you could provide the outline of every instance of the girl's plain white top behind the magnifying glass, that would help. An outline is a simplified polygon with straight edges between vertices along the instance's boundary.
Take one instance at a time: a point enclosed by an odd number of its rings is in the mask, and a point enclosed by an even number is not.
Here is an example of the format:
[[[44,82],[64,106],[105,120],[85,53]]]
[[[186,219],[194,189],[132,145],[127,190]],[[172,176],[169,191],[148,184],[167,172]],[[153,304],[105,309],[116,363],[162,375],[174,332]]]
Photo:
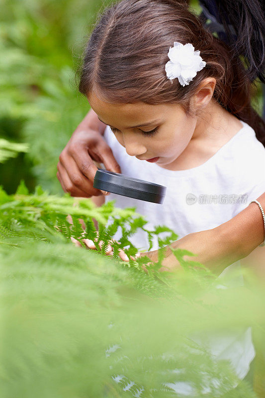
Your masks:
[[[166,186],[167,192],[163,204],[112,193],[105,197],[105,201],[115,199],[120,208],[135,206],[136,211],[148,220],[145,228],[166,225],[179,239],[230,220],[265,192],[265,148],[253,128],[241,123],[242,128],[205,163],[180,171],[163,169],[156,163],[128,155],[106,126],[104,139],[112,149],[121,173]],[[121,230],[118,230],[115,239],[120,236]],[[139,250],[148,250],[144,231],[138,230],[130,240]],[[158,243],[153,243],[151,250],[156,250]],[[219,278],[234,267],[240,267],[240,261],[227,267]],[[242,286],[243,279],[232,284]],[[228,333],[222,340],[211,341],[210,345],[216,358],[230,359],[240,379],[247,375],[249,364],[255,357],[250,328],[239,330],[238,334]]]

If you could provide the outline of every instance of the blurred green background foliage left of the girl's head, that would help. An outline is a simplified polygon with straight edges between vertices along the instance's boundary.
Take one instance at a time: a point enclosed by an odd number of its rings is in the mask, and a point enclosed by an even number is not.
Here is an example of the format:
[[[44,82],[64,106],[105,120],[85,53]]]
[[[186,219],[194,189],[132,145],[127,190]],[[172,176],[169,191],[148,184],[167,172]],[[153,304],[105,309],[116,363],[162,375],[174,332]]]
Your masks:
[[[98,0],[1,1],[0,137],[30,145],[29,153],[0,166],[8,193],[21,178],[31,192],[37,182],[62,192],[58,157],[89,109],[75,72],[101,6]]]

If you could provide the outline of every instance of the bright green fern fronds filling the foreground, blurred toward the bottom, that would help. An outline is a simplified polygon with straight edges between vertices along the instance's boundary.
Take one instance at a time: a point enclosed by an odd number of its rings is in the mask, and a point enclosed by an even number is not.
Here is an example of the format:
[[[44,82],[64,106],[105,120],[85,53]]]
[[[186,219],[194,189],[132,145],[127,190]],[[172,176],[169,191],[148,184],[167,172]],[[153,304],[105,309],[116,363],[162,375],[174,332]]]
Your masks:
[[[82,241],[83,232],[94,239],[92,217],[101,251],[74,247],[70,239]],[[158,272],[152,263],[146,274],[139,266],[144,257],[122,262],[118,244],[113,257],[104,254],[120,225],[121,246],[134,255],[130,236],[145,223],[113,201],[95,207],[40,187],[29,195],[24,183],[15,195],[0,188],[1,398],[257,398],[225,352],[211,354],[207,339],[219,344],[224,334],[231,344],[252,326],[264,359],[264,283],[245,270],[249,288],[226,289],[229,281],[184,260],[182,249],[174,251],[177,273]],[[176,239],[167,232],[161,252]],[[264,367],[256,373],[263,386]]]

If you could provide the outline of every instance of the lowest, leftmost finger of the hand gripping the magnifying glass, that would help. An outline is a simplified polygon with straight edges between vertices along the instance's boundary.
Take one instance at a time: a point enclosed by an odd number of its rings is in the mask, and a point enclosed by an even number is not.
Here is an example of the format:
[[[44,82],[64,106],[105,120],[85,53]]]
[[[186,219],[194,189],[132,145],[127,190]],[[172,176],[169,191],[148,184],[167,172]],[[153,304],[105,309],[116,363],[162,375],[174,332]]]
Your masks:
[[[67,162],[61,162],[61,164],[65,168],[68,177],[72,181],[73,186],[84,192],[84,194],[86,194],[86,197],[91,197],[98,194],[98,190],[96,188],[93,188],[94,180],[88,180],[88,178],[78,168],[75,160],[72,157],[68,157]]]

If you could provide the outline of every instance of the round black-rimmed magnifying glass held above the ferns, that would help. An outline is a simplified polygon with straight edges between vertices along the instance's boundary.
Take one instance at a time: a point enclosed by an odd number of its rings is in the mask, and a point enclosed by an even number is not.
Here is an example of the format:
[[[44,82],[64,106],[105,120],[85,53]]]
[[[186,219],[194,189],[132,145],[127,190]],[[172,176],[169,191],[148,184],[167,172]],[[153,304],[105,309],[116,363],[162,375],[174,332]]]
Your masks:
[[[93,187],[112,194],[161,204],[167,191],[167,187],[163,185],[153,184],[103,169],[96,171]]]

